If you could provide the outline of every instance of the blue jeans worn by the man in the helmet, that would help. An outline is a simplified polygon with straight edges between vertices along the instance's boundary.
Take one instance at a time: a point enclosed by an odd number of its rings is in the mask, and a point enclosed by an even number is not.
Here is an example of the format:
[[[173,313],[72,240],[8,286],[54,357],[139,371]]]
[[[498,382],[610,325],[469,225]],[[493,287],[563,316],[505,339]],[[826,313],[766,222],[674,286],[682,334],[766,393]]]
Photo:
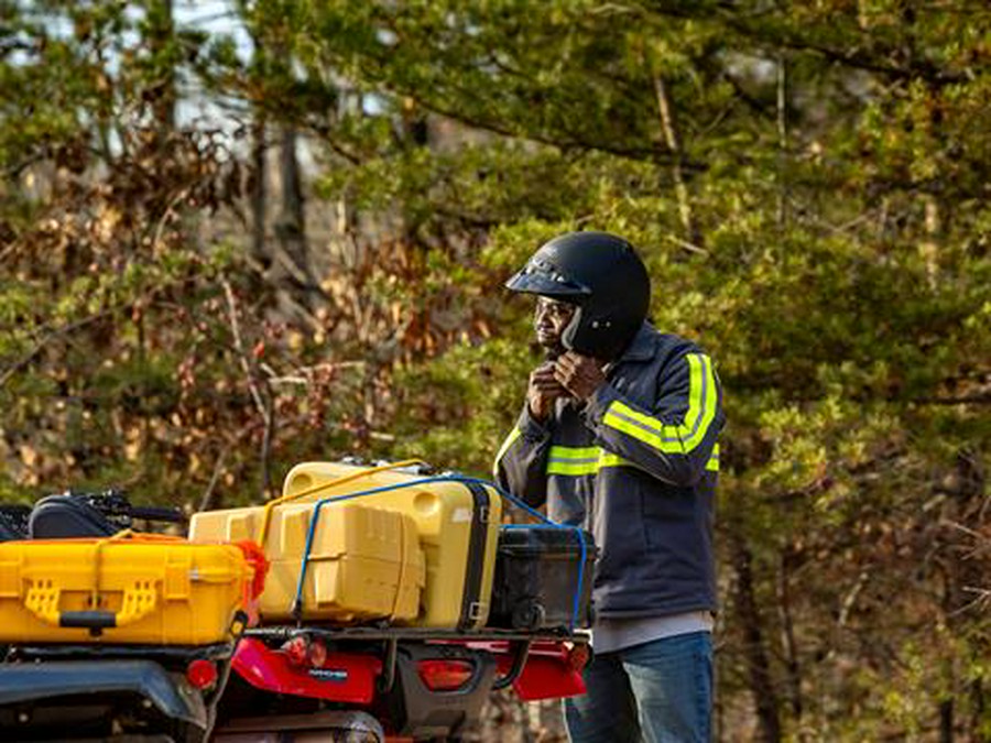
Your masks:
[[[709,743],[712,637],[691,632],[593,655],[565,700],[571,743]]]

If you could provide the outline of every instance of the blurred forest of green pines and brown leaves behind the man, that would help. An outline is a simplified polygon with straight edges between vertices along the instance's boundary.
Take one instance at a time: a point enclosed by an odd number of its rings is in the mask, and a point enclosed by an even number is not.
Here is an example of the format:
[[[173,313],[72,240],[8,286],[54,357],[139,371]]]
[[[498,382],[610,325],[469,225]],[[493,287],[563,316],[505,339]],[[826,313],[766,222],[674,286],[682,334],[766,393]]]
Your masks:
[[[991,740],[985,0],[0,0],[0,496],[486,474],[580,228],[726,386],[719,740]]]

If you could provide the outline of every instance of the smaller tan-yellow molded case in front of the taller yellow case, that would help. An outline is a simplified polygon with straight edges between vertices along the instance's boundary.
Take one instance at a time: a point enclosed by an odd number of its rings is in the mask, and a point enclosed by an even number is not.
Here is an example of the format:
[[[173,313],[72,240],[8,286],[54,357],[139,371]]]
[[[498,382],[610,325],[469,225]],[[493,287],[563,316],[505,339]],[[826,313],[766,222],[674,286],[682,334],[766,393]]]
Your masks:
[[[313,503],[206,511],[189,523],[194,542],[257,539],[269,559],[259,600],[262,622],[295,619]],[[265,532],[264,534],[262,532]],[[390,619],[412,620],[420,611],[423,553],[410,516],[359,503],[320,507],[304,581],[302,619],[341,624]]]

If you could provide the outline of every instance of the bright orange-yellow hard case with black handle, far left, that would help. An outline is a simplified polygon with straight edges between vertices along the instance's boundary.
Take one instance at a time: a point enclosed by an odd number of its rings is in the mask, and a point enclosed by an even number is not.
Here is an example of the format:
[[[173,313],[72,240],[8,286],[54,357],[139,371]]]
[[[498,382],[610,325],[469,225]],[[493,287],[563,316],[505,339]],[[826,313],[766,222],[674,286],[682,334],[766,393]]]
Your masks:
[[[254,569],[185,539],[0,544],[0,642],[207,645],[230,638]]]

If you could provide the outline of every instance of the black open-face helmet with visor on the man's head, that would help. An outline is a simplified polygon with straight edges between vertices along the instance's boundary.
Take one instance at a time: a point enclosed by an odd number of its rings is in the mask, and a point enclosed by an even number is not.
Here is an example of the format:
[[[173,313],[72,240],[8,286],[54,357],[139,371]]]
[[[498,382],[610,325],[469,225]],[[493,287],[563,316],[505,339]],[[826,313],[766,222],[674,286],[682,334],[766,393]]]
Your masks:
[[[505,285],[576,305],[560,340],[598,359],[622,353],[651,304],[643,261],[633,245],[608,232],[567,232],[545,242]]]

